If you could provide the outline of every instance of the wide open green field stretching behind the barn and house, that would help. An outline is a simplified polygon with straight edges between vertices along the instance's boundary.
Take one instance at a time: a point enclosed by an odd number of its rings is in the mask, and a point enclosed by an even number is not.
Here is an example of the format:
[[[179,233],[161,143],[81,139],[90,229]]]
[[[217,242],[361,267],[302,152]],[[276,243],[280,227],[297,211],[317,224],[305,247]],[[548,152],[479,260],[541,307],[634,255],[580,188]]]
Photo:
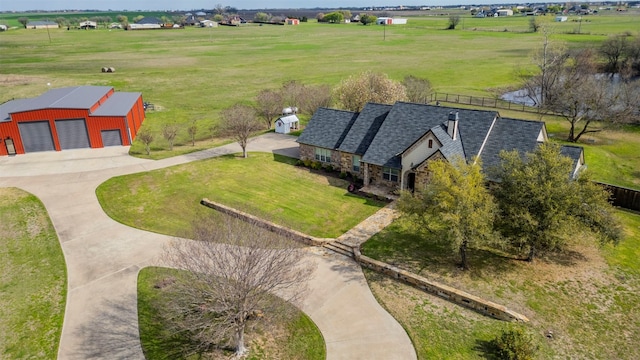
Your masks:
[[[19,17],[4,16],[12,23]],[[591,16],[588,23],[585,17],[581,34],[569,34],[574,23],[538,19],[569,46],[597,46],[609,34],[640,31],[637,12]],[[164,124],[182,126],[178,144],[188,142],[186,127],[192,121],[199,139],[210,138],[221,109],[252,104],[260,90],[291,80],[335,86],[372,70],[395,80],[425,77],[438,92],[492,96],[492,89],[517,85],[515,69],[531,66],[530,54],[542,35],[526,32],[528,21],[465,14],[454,31],[443,30],[447,16],[410,17],[407,25],[387,27],[311,21],[156,31],[10,30],[0,33],[0,102],[36,96],[49,87],[110,85],[139,91],[158,109],[147,113],[145,126],[157,135],[152,147],[161,149],[166,147],[160,135]],[[101,73],[105,66],[116,72]],[[141,153],[140,144],[132,152]]]

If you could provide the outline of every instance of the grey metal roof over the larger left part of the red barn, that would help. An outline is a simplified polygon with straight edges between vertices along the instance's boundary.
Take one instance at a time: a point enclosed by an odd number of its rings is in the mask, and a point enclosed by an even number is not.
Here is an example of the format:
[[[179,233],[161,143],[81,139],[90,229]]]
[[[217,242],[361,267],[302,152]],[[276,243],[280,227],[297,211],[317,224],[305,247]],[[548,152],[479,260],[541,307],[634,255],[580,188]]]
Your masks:
[[[41,109],[90,109],[111,89],[111,86],[76,86],[49,90],[32,99],[25,99],[11,112]]]

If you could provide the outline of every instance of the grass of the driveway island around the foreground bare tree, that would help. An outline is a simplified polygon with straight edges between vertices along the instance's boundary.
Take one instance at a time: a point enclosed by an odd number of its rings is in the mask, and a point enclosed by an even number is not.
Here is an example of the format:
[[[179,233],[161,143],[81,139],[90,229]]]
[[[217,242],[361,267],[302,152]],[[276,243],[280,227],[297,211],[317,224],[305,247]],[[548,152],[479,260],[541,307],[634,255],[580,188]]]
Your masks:
[[[176,338],[167,332],[158,305],[163,291],[156,287],[163,279],[176,270],[166,268],[144,268],[138,275],[138,321],[142,349],[147,360],[181,359],[183,347],[189,344],[185,339]],[[261,320],[247,334],[248,359],[305,359],[326,358],[324,339],[313,321],[292,305],[293,315],[288,320],[276,324],[262,324]],[[266,331],[266,328],[269,331]],[[275,335],[274,335],[275,334]],[[229,354],[227,354],[229,356]],[[198,359],[191,356],[189,359]]]

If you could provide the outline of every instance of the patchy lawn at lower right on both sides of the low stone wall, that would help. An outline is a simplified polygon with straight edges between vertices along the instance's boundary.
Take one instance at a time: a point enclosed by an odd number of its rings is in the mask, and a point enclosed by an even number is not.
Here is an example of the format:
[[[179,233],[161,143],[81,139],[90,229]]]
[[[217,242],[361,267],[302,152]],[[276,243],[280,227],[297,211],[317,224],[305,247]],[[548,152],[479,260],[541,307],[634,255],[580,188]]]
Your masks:
[[[563,256],[533,264],[494,250],[469,252],[471,271],[456,254],[400,219],[363,246],[363,253],[485,299],[531,321],[521,325],[541,346],[539,358],[637,359],[640,338],[640,214],[620,211],[625,239],[589,245],[576,229]],[[508,324],[367,272],[374,295],[407,329],[420,359],[491,358],[488,341]],[[552,340],[543,336],[551,330]]]

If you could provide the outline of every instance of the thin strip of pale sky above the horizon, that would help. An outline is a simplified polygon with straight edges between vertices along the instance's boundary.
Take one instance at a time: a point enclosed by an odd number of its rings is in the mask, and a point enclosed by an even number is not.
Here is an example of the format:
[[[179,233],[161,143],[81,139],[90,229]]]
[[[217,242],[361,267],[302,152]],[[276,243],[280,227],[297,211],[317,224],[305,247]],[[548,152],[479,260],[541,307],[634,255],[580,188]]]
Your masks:
[[[508,0],[493,0],[491,3],[505,3]],[[237,9],[291,9],[291,8],[332,8],[332,7],[368,7],[394,5],[456,5],[478,4],[473,0],[0,0],[0,11],[24,10],[192,10],[212,9],[216,4]],[[511,1],[511,3],[513,3]]]

